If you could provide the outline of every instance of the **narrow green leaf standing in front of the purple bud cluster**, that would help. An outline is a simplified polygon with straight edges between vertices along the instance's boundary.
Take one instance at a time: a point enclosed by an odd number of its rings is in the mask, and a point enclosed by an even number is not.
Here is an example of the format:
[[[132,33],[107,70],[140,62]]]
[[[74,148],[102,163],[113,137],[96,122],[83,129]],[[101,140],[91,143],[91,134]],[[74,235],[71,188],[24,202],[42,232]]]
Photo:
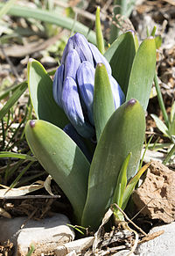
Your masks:
[[[115,103],[105,65],[97,64],[95,69],[94,119],[97,141],[109,117],[115,112]]]

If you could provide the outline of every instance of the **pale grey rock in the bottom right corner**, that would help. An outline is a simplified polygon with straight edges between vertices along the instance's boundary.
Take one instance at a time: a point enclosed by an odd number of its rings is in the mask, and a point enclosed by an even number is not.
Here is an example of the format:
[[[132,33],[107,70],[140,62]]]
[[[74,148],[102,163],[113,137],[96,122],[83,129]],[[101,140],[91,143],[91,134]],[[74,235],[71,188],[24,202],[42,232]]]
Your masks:
[[[149,234],[165,230],[158,238],[138,245],[135,255],[140,256],[174,256],[175,255],[175,223],[170,223],[153,228]]]

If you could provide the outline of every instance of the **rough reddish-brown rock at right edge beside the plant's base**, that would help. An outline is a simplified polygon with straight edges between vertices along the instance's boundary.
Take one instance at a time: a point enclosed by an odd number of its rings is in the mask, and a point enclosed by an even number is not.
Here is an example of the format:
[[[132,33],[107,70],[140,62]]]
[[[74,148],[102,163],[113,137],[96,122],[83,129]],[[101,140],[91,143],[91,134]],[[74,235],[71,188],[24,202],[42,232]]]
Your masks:
[[[141,187],[133,193],[137,210],[165,223],[175,220],[175,172],[153,161]]]

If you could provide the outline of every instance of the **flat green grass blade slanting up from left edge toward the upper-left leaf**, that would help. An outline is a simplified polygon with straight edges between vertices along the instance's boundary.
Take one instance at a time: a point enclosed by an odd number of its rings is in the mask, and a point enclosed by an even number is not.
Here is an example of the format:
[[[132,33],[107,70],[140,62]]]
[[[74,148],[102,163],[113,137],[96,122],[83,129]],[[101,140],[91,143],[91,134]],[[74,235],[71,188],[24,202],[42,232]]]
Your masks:
[[[4,117],[6,113],[8,113],[11,106],[13,106],[18,101],[18,99],[21,97],[21,95],[25,92],[26,89],[27,89],[26,82],[18,86],[18,89],[13,92],[11,98],[6,102],[6,104],[0,110],[0,120]]]

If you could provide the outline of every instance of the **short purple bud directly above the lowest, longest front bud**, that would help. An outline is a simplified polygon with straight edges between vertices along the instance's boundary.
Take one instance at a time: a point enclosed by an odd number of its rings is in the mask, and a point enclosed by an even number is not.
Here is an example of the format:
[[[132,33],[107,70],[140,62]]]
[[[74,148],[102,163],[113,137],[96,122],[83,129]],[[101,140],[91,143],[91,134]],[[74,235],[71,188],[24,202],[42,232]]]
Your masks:
[[[81,60],[77,52],[73,49],[66,55],[65,62],[65,78],[72,77],[73,80],[76,79],[76,72],[81,64]]]

